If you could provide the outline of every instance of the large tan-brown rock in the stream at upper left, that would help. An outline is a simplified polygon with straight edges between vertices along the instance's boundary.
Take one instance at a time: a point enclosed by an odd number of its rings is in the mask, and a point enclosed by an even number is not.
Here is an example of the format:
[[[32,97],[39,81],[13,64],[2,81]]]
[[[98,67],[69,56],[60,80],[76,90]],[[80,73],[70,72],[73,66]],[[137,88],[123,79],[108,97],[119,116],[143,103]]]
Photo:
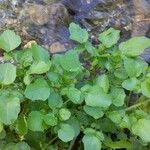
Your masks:
[[[52,3],[49,5],[30,4],[25,6],[26,12],[36,25],[51,26],[65,24],[69,20],[66,7],[61,3]]]

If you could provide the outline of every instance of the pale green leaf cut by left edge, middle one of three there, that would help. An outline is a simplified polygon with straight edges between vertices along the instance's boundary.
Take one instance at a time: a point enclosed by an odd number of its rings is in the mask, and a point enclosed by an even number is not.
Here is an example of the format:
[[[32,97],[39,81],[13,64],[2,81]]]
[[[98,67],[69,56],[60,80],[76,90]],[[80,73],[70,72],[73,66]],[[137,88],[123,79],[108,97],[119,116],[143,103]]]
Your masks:
[[[16,79],[16,67],[13,64],[0,64],[0,84],[8,85]]]

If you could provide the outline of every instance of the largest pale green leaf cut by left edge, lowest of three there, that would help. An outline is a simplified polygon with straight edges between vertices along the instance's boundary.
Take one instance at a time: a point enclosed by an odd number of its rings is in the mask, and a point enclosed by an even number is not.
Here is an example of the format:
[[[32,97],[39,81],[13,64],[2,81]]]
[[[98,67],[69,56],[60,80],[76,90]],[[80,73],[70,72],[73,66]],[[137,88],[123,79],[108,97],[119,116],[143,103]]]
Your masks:
[[[0,94],[0,122],[10,125],[18,118],[20,100],[11,93]]]

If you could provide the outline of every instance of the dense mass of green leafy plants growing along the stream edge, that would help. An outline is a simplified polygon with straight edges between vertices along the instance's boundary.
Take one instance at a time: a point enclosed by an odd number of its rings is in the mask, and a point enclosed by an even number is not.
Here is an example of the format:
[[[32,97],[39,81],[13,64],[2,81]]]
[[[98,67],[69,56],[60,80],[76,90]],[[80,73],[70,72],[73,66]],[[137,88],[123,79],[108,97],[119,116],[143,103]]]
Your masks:
[[[0,149],[150,149],[150,67],[140,55],[150,39],[118,44],[120,31],[99,34],[94,47],[71,23],[75,49],[49,56],[35,43],[18,48],[0,35]]]

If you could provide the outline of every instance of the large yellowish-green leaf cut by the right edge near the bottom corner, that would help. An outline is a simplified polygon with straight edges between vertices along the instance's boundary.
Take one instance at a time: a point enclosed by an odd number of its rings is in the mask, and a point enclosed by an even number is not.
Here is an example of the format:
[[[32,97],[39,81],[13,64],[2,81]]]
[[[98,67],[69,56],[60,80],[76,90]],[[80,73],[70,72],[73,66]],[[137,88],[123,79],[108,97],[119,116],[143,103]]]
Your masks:
[[[139,119],[132,126],[133,134],[139,136],[144,142],[150,142],[150,120]]]

